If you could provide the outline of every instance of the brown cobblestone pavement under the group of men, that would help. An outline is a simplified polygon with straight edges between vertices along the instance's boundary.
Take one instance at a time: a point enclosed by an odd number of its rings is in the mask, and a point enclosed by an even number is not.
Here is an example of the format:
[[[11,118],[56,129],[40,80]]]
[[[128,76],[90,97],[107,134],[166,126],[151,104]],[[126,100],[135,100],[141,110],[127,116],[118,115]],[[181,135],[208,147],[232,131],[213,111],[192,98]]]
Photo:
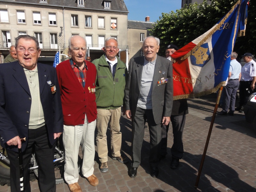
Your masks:
[[[93,187],[85,178],[80,177],[78,182],[81,188],[87,192],[255,192],[256,132],[252,124],[245,121],[244,114],[238,112],[235,112],[234,116],[216,116],[199,185],[197,189],[194,188],[215,101],[216,94],[188,99],[189,114],[183,133],[185,153],[178,169],[170,168],[173,140],[170,131],[168,155],[159,165],[159,176],[156,179],[149,175],[149,131],[146,128],[141,151],[141,165],[135,178],[128,176],[131,162],[119,163],[110,158],[110,153],[108,154],[109,171],[101,173],[95,143],[94,174],[99,179],[99,185]],[[219,108],[218,111],[221,109]],[[121,117],[121,131],[123,134],[122,149],[131,161],[131,121],[123,116]],[[108,144],[109,138],[108,132]],[[33,192],[39,191],[37,180],[31,182],[31,186]],[[0,186],[0,191],[9,192],[10,187]],[[67,184],[58,184],[57,191],[69,191]]]

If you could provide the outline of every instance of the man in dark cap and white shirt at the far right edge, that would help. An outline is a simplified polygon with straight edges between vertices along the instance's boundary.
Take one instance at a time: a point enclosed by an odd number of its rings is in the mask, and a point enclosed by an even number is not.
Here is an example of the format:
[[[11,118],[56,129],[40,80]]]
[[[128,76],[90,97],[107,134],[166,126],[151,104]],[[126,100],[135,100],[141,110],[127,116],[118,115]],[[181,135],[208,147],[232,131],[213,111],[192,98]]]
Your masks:
[[[235,110],[240,113],[244,113],[243,105],[246,104],[248,97],[252,94],[255,89],[256,82],[256,62],[252,60],[252,53],[245,53],[242,55],[244,59],[244,67],[241,69],[241,79],[240,79],[240,87],[239,87],[239,107]],[[247,90],[246,90],[247,89]]]

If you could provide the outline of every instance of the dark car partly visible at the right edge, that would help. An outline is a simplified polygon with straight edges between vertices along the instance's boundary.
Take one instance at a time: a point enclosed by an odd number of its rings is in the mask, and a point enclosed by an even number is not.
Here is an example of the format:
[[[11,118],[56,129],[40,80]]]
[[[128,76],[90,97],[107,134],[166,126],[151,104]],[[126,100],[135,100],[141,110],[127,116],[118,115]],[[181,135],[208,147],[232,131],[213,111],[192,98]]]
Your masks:
[[[253,128],[256,131],[256,93],[249,96],[247,104],[244,106],[245,119],[249,123],[253,123]]]

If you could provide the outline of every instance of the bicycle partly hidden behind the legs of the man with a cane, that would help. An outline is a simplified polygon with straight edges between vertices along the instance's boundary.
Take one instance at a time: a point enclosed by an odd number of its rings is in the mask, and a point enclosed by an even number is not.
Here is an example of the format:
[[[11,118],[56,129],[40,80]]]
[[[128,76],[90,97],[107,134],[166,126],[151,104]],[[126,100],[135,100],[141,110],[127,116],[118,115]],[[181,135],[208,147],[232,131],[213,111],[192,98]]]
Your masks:
[[[54,171],[56,184],[63,183],[63,173],[64,173],[64,157],[65,153],[59,147],[55,147],[54,151]],[[38,177],[38,165],[36,163],[35,153],[31,155],[30,158],[30,180],[35,180]],[[34,174],[34,175],[33,175]],[[0,146],[0,185],[7,184],[10,186],[10,160],[4,148]]]

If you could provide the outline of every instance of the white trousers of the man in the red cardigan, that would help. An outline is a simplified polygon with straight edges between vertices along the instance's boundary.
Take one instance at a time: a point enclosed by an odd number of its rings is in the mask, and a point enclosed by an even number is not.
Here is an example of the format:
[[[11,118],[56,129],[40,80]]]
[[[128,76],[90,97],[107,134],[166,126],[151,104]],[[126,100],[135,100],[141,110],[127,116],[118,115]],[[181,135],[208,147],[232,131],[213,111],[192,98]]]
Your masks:
[[[85,115],[84,124],[70,126],[64,125],[63,143],[65,148],[64,178],[68,184],[76,183],[79,178],[78,173],[78,152],[80,144],[82,146],[83,164],[82,175],[89,177],[93,174],[94,168],[94,131],[96,120],[88,123]]]

